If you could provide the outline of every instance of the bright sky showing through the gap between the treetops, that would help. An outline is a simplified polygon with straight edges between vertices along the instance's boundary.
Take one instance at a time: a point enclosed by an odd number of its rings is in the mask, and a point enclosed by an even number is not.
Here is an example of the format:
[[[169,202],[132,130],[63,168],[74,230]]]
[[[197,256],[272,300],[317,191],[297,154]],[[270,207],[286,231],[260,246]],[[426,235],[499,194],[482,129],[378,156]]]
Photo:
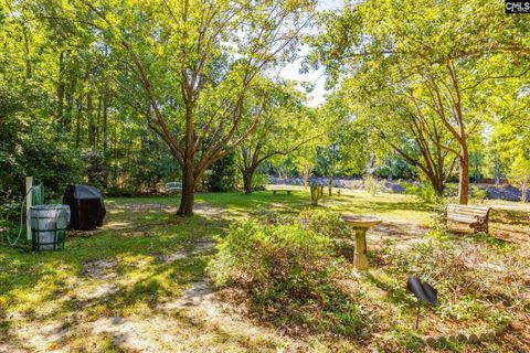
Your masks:
[[[342,0],[320,0],[318,1],[317,10],[338,10],[342,8]],[[307,53],[308,49],[303,47],[300,50],[300,55]],[[308,82],[315,84],[315,89],[309,93],[308,104],[311,107],[316,107],[322,104],[325,99],[326,90],[324,84],[326,82],[326,76],[324,75],[324,69],[311,71],[308,74],[300,74],[300,63],[301,60],[295,61],[293,64],[289,64],[282,68],[279,72],[280,77],[286,79],[296,79],[299,82]]]

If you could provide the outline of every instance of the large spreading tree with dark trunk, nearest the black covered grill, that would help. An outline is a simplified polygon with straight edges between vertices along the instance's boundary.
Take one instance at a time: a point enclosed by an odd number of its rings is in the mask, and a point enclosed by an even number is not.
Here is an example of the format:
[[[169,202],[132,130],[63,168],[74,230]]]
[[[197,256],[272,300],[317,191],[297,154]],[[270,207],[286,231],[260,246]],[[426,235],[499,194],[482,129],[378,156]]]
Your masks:
[[[113,49],[126,94],[182,167],[178,214],[187,216],[204,170],[257,126],[252,117],[241,131],[245,95],[258,73],[294,52],[314,1],[78,0],[73,8]]]

